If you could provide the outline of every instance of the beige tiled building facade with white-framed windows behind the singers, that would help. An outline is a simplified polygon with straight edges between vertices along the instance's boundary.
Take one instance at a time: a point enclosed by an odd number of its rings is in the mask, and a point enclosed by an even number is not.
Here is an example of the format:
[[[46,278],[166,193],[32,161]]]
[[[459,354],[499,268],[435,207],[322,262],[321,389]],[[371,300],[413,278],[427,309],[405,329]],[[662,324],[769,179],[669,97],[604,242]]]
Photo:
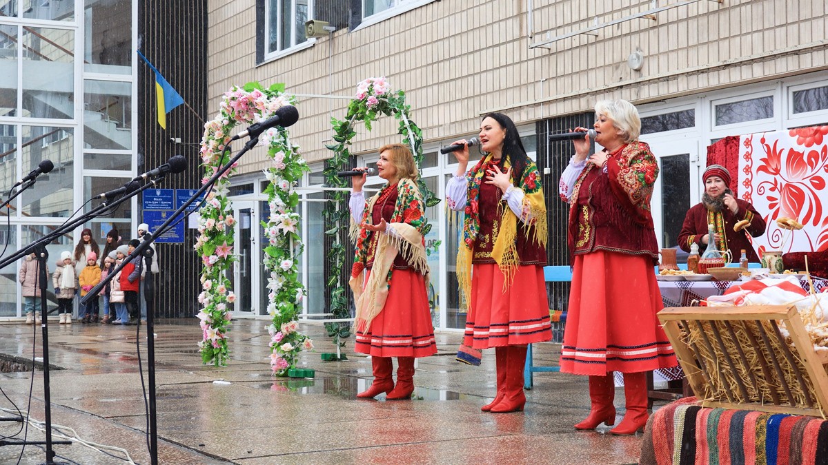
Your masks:
[[[828,14],[821,0],[600,2],[598,0],[209,0],[208,113],[232,85],[284,83],[297,96],[291,137],[313,168],[301,186],[302,258],[308,314],[325,313],[325,247],[320,172],[330,151],[330,118],[344,117],[359,81],[385,76],[406,92],[423,129],[423,176],[438,196],[455,170],[440,146],[474,135],[482,115],[506,113],[544,173],[551,225],[549,261],[566,265],[566,205],[556,186],[570,146],[551,133],[590,126],[599,99],[624,98],[643,117],[642,140],[662,164],[653,199],[662,247],[676,245],[686,209],[700,199],[705,147],[729,135],[828,122]],[[307,38],[307,19],[335,28]],[[376,161],[398,141],[396,122],[355,138],[355,161]],[[262,218],[259,148],[235,178],[240,214]],[[379,185],[381,180],[373,180]],[[434,323],[462,328],[454,262],[457,228],[442,204],[428,212],[440,242],[432,259]],[[244,237],[261,236],[257,221]],[[242,237],[242,236],[239,236]],[[256,241],[248,252],[258,256]],[[261,241],[258,241],[261,243]],[[250,260],[256,268],[257,261]],[[439,271],[439,272],[436,272]],[[251,295],[262,295],[260,271]],[[238,273],[238,271],[237,271]],[[248,275],[237,275],[239,277]],[[244,280],[247,281],[247,280]],[[550,288],[551,306],[566,287]],[[262,314],[263,306],[237,309]]]

